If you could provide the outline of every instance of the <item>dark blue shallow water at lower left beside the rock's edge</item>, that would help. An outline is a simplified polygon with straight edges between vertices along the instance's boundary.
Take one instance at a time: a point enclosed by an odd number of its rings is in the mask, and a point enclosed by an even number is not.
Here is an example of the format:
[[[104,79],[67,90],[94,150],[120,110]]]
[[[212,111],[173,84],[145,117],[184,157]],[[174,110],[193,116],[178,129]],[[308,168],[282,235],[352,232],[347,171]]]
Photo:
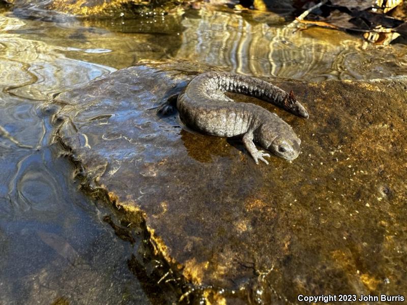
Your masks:
[[[0,163],[0,303],[149,304],[127,268],[129,245],[79,192],[72,166],[53,147],[11,149]]]

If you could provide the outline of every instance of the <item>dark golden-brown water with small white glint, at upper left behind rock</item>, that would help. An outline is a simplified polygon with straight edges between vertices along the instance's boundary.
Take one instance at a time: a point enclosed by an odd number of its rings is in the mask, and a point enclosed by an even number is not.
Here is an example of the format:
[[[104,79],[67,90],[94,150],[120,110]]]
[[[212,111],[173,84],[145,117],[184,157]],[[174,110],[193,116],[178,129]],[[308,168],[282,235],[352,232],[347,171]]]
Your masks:
[[[128,67],[144,58],[168,58],[177,52],[182,42],[179,15],[24,21],[23,26],[9,29],[9,33],[54,46],[57,52],[70,58],[114,68]]]

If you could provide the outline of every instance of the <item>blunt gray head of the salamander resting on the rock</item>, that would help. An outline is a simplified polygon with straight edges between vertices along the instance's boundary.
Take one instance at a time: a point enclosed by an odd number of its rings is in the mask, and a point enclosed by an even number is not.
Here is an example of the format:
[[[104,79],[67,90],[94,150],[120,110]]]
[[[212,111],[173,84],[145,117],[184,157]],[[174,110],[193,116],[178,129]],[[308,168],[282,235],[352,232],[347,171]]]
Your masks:
[[[274,126],[261,126],[256,140],[261,147],[287,160],[294,160],[300,154],[301,140],[284,121]]]

